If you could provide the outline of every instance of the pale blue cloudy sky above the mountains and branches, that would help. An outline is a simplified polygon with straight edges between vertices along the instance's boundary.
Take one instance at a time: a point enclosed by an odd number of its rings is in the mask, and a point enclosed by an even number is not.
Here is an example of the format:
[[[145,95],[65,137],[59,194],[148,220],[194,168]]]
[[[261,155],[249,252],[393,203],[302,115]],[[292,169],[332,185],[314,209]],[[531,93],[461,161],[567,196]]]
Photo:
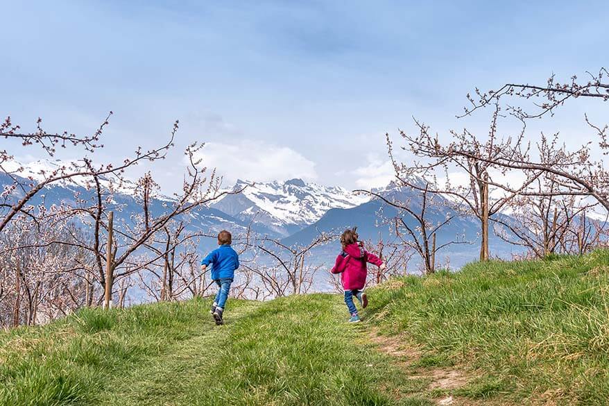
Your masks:
[[[165,189],[194,141],[226,183],[376,186],[391,178],[384,134],[413,130],[413,117],[441,134],[483,130],[486,112],[454,117],[474,87],[607,67],[609,3],[583,3],[0,0],[0,116],[90,133],[113,110],[96,155],[117,162],[164,142],[179,119],[175,149],[153,169]],[[584,110],[599,111],[588,108],[530,136],[560,128],[579,142]]]

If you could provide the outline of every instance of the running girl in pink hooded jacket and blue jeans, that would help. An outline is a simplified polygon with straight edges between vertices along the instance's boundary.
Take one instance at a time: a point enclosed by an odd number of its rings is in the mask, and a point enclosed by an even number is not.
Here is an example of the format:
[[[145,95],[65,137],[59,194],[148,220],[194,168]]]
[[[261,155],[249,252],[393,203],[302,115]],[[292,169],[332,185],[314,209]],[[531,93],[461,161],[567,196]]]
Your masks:
[[[343,251],[336,257],[336,264],[332,268],[332,273],[341,273],[341,282],[345,289],[345,303],[351,314],[350,323],[360,321],[357,307],[353,303],[353,296],[359,300],[362,308],[368,306],[368,298],[362,291],[366,285],[366,276],[368,276],[366,263],[370,262],[381,269],[385,268],[385,264],[379,257],[363,248],[363,243],[358,241],[356,230],[357,227],[353,230],[345,230],[341,235]]]

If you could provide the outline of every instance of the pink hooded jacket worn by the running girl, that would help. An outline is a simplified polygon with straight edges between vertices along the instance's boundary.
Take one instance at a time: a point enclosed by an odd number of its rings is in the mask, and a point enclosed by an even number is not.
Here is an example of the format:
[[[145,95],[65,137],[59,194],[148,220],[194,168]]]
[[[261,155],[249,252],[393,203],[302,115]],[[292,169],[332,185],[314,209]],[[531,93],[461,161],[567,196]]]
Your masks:
[[[345,247],[345,251],[336,257],[332,273],[342,273],[343,289],[363,289],[366,285],[368,269],[366,262],[380,267],[383,261],[379,257],[363,249],[363,244],[354,243]]]

